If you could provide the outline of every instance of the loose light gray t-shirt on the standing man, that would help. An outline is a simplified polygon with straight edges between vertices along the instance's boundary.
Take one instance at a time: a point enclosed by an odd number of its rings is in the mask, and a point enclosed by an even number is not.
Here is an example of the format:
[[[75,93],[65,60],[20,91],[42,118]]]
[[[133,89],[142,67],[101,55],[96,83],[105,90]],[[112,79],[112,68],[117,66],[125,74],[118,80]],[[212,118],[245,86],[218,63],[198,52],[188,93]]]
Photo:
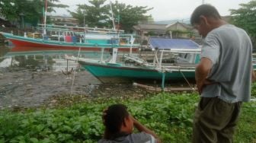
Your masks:
[[[251,96],[251,40],[245,30],[225,24],[207,34],[201,58],[213,62],[202,97],[219,97],[229,103],[248,101]]]

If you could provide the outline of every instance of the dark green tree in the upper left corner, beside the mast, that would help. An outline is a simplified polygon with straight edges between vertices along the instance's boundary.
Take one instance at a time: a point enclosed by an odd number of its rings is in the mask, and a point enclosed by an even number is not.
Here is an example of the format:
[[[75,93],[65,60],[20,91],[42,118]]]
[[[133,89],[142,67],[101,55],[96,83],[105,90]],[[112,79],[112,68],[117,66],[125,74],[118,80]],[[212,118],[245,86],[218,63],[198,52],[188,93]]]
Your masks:
[[[47,11],[54,11],[53,8],[66,8],[68,5],[55,4],[59,0],[48,0]],[[45,0],[0,0],[0,15],[8,21],[25,21],[37,25],[43,20],[43,8]]]

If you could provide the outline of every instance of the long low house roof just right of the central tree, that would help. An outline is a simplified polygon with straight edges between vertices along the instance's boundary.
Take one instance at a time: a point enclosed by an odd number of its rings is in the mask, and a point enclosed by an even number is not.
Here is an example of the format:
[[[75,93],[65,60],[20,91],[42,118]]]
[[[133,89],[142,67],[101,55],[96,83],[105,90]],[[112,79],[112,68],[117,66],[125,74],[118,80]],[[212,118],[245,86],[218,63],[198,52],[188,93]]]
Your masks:
[[[133,26],[136,30],[166,30],[167,24],[138,24]]]

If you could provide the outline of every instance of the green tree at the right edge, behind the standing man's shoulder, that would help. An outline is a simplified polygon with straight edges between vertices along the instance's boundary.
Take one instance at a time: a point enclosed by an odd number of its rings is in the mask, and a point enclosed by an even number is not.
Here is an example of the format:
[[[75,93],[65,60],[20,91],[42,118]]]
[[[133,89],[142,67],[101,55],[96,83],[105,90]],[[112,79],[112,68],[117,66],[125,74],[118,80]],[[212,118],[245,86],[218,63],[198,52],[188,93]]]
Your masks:
[[[253,46],[256,47],[256,0],[240,6],[241,8],[230,10],[232,24],[246,30]]]

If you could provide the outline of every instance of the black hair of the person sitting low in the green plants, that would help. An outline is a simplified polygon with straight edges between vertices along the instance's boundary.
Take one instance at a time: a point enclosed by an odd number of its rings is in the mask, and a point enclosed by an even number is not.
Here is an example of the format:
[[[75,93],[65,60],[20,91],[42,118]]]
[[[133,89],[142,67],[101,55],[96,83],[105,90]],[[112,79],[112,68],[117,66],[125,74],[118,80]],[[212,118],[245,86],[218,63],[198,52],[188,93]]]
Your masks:
[[[123,104],[114,104],[108,106],[105,111],[104,119],[104,138],[113,139],[116,138],[120,134],[120,128],[124,123],[124,119],[129,116],[127,107]]]

